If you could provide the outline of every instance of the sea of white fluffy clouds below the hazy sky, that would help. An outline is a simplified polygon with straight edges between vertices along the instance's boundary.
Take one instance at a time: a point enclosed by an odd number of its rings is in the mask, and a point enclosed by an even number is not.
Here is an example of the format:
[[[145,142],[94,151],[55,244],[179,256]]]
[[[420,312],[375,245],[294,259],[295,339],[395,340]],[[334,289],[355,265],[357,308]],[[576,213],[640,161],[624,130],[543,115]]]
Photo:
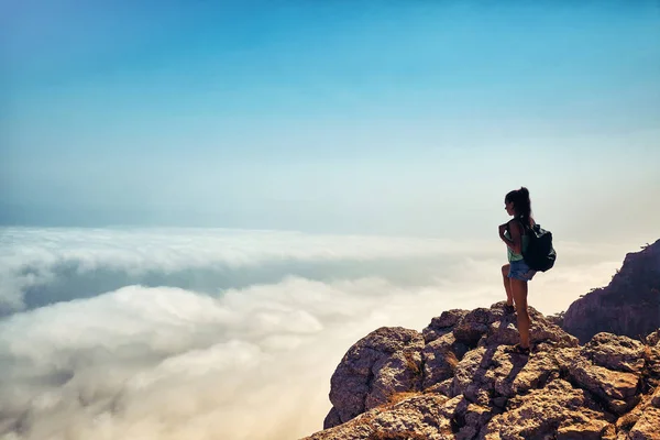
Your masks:
[[[544,314],[644,243],[556,243]],[[492,241],[221,229],[0,229],[0,439],[296,439],[382,326],[505,298]]]

